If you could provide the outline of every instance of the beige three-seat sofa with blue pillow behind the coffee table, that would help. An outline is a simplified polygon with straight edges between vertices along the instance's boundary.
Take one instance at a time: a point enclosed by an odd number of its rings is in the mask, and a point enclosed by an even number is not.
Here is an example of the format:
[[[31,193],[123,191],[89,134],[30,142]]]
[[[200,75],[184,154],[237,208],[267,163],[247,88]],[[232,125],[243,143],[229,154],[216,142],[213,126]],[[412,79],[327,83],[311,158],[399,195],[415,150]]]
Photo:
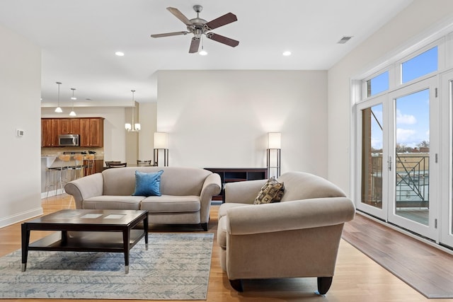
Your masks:
[[[132,196],[135,171],[161,175],[161,196]],[[207,231],[213,195],[219,194],[220,177],[200,168],[110,168],[64,186],[76,209],[146,209],[150,224],[200,224]]]

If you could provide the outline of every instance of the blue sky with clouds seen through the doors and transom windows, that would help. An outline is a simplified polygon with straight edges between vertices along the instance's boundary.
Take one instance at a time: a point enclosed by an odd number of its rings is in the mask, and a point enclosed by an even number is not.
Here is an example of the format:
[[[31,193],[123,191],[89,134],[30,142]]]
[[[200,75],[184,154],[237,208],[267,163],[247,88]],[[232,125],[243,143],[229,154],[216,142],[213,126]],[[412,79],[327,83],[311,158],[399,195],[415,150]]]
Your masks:
[[[417,79],[437,70],[437,47],[423,52],[402,64],[401,80],[403,83]],[[389,89],[389,74],[376,76],[371,81],[372,95]],[[430,141],[430,99],[429,90],[418,91],[396,99],[396,143],[415,147],[422,141]],[[372,108],[380,124],[382,105]],[[372,147],[382,149],[382,130],[372,121]]]

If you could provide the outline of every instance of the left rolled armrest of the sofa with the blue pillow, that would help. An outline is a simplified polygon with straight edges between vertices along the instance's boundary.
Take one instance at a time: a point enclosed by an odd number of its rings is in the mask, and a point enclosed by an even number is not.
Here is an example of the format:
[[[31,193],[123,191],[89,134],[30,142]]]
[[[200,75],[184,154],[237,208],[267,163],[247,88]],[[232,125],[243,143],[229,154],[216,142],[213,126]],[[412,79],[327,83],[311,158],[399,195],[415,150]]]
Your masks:
[[[83,209],[85,199],[103,194],[103,184],[104,178],[102,173],[95,173],[68,182],[64,186],[64,191],[74,197],[76,209]]]

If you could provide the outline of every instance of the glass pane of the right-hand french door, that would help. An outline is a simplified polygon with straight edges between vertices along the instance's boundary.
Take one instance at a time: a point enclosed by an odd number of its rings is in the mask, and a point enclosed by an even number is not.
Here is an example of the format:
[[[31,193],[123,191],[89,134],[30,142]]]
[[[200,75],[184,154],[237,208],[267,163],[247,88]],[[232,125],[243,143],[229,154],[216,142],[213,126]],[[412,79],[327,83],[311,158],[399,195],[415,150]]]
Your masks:
[[[425,226],[430,211],[430,91],[395,100],[395,214]]]

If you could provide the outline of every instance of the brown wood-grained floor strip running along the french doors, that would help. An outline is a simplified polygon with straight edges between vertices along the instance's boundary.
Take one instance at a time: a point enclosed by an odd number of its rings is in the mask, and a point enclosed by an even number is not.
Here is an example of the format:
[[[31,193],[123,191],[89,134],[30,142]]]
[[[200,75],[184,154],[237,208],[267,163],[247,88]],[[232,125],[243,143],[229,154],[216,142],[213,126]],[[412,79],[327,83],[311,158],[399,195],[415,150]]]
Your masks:
[[[453,298],[453,255],[365,216],[345,223],[343,239],[427,298]]]

